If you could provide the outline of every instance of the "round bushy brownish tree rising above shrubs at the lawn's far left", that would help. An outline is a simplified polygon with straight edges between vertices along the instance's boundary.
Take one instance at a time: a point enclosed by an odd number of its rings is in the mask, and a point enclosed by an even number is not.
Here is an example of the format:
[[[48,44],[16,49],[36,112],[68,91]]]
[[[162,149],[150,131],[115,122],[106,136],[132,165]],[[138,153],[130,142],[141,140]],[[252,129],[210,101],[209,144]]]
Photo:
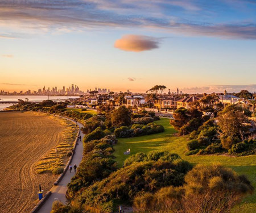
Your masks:
[[[125,106],[120,106],[111,112],[110,119],[114,127],[130,126],[131,111]]]

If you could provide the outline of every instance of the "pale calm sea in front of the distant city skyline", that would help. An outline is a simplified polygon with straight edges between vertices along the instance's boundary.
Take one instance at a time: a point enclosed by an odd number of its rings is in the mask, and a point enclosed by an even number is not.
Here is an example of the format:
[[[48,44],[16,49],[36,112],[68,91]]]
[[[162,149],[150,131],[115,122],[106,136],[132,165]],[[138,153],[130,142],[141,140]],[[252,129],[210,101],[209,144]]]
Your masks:
[[[52,101],[64,101],[68,98],[79,98],[78,96],[49,96],[48,95],[0,95],[0,102],[1,101],[18,101],[18,99],[22,99],[25,101],[25,98],[28,101],[44,101],[44,100],[52,100]],[[4,108],[7,108],[11,105],[1,104],[0,103],[0,111]]]

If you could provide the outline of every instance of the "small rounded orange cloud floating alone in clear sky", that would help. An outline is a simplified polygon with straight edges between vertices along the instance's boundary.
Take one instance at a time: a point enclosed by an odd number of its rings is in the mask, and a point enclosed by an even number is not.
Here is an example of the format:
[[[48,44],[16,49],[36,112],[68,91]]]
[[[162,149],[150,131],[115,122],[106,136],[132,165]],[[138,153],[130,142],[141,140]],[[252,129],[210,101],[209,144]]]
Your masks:
[[[125,35],[115,41],[114,47],[123,51],[142,52],[159,48],[159,39],[142,35]]]

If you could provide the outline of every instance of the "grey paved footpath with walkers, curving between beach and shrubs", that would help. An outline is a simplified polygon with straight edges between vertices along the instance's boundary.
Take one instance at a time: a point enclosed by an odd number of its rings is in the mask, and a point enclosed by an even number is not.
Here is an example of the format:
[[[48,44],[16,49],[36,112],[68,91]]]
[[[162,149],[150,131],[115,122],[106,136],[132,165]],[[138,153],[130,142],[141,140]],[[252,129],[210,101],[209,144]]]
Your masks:
[[[80,124],[79,122],[77,122],[77,125],[79,125],[80,128],[83,127],[82,124]],[[74,164],[76,164],[78,167],[82,160],[82,151],[83,151],[82,139],[84,138],[84,134],[80,131],[80,135],[81,135],[81,141],[79,141],[79,143],[76,145],[75,154],[71,161],[72,167]],[[67,185],[71,181],[71,178],[74,175],[75,175],[74,169],[72,169],[71,173],[69,172],[69,170],[65,173],[65,175],[64,175],[63,179],[61,179],[59,185],[52,187],[52,189],[51,189],[52,194],[47,199],[47,201],[43,204],[43,206],[40,208],[38,213],[50,213],[52,210],[53,201],[59,200],[63,203],[65,203],[67,201],[67,199],[65,197],[66,191],[68,189]]]

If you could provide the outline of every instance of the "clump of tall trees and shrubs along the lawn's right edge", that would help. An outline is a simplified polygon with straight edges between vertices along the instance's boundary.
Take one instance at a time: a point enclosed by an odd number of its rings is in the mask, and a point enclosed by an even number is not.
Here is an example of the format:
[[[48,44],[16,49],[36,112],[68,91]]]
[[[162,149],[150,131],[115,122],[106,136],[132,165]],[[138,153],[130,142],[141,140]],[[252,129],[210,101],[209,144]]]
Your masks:
[[[179,135],[189,135],[187,154],[228,152],[237,156],[256,153],[256,128],[251,112],[237,105],[223,108],[217,95],[210,94],[179,108],[171,124]]]

